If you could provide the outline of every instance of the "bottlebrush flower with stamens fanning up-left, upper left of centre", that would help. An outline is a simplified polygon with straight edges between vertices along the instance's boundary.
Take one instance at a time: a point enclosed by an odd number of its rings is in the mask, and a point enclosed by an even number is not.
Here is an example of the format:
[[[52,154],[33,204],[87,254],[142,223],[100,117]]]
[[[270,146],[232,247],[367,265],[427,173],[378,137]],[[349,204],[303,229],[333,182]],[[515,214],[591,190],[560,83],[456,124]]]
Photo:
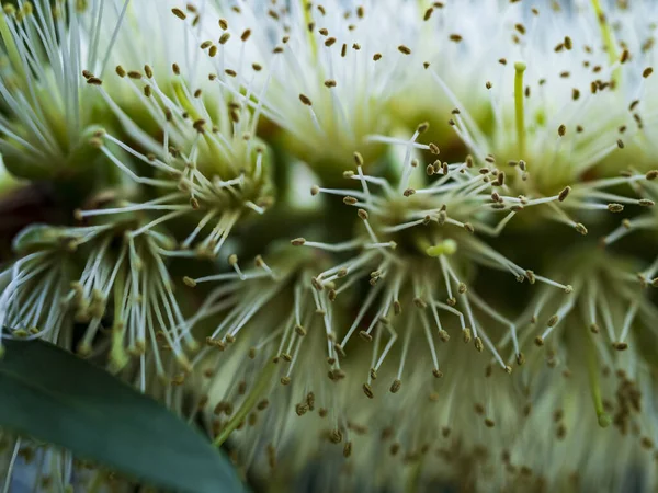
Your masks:
[[[181,76],[180,67],[171,68]],[[116,68],[128,84],[139,84],[140,104],[157,124],[159,136],[144,131],[111,96],[101,95],[118,116],[132,146],[98,131],[92,144],[134,183],[152,188],[156,198],[123,207],[78,210],[78,219],[145,211],[158,215],[143,232],[179,217],[195,217],[197,223],[181,242],[190,249],[206,225],[212,231],[195,245],[200,255],[218,254],[230,231],[249,213],[263,214],[271,205],[270,163],[266,148],[252,134],[256,122],[249,108],[232,101],[218,85],[209,100],[204,91],[189,87],[180,77],[170,98],[160,89],[157,74],[146,65],[140,71]],[[126,77],[127,76],[127,77]],[[136,82],[133,82],[136,81]],[[150,169],[138,175],[126,158]],[[124,162],[125,161],[125,162]],[[150,195],[150,194],[149,194]],[[160,211],[167,211],[166,214]],[[203,215],[198,218],[198,214]],[[186,255],[190,252],[182,252]]]

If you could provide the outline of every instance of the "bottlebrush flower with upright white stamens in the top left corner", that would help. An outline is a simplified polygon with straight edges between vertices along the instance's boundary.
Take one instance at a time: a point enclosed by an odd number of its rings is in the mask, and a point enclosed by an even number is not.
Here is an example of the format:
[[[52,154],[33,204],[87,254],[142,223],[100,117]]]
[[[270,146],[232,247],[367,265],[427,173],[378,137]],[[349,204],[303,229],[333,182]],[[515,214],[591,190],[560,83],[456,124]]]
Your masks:
[[[18,176],[70,176],[97,162],[89,139],[106,108],[89,85],[105,70],[114,38],[100,43],[100,1],[19,3],[5,4],[0,16],[7,57],[0,70],[0,150]],[[117,30],[121,20],[106,28]]]

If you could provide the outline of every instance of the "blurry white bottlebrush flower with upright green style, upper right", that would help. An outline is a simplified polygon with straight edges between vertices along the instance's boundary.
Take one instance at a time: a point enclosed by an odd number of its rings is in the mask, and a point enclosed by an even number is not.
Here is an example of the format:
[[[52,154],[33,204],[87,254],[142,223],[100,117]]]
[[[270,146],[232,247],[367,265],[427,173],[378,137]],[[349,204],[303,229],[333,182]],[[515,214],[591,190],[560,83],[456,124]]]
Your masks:
[[[488,79],[479,89],[490,93],[491,121],[474,117],[470,108],[481,113],[481,105],[456,96],[461,78],[446,77],[432,64],[427,70],[453,103],[446,119],[476,164],[500,163],[510,191],[531,198],[557,195],[569,186],[569,199],[564,196],[541,216],[585,234],[587,228],[572,216],[609,208],[595,183],[587,182],[604,176],[604,169],[611,170],[603,167],[606,162],[616,163],[614,174],[622,171],[626,142],[646,139],[638,98],[653,69],[643,65],[647,60],[635,39],[631,46],[612,37],[617,10],[599,20],[589,5],[567,12],[512,3],[518,4],[500,12],[500,27],[484,22],[485,32],[496,39],[483,61],[480,73]],[[488,9],[483,19],[498,19],[491,11],[499,8]],[[472,44],[480,43],[481,33],[469,39],[470,31],[455,38],[467,53],[477,51]],[[613,205],[612,210],[621,208]]]

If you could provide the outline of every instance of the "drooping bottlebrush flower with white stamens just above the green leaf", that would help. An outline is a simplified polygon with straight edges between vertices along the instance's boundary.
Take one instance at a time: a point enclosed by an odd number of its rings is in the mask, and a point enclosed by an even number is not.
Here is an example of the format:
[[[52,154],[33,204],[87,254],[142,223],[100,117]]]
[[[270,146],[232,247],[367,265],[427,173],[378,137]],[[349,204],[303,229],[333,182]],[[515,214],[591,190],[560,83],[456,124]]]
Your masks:
[[[171,371],[162,365],[160,344],[189,370],[183,346],[190,349],[196,343],[164,263],[171,240],[144,229],[148,225],[131,226],[25,229],[14,243],[20,257],[0,274],[0,348],[2,336],[39,337],[73,348],[73,323],[78,323],[86,330],[76,349],[90,356],[112,313],[110,360],[120,370],[128,363],[128,353],[139,358],[143,391],[147,347],[160,378],[169,378]],[[116,242],[118,251],[112,249]]]

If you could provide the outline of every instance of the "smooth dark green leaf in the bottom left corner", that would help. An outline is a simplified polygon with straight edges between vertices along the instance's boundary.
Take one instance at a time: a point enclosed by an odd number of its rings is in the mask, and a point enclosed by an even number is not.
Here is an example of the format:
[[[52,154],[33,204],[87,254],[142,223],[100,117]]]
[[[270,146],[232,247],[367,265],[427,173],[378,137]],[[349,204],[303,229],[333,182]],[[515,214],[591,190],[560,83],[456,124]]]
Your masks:
[[[243,491],[226,457],[155,400],[52,344],[3,343],[1,427],[156,486]]]

